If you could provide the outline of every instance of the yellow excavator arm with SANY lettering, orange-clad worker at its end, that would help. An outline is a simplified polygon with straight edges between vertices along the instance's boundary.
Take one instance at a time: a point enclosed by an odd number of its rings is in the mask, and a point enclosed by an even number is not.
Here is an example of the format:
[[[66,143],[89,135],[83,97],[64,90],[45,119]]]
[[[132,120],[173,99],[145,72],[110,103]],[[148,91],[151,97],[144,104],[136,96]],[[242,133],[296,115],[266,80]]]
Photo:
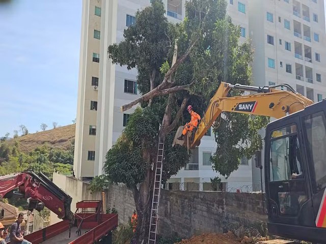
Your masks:
[[[285,86],[288,90],[276,89],[278,86]],[[228,97],[231,89],[255,92],[255,94]],[[215,95],[210,100],[205,114],[193,136],[193,140],[189,143],[190,148],[194,148],[200,144],[200,139],[222,112],[237,112],[281,118],[300,111],[311,104],[313,104],[313,101],[295,92],[288,84],[257,87],[240,84],[232,85],[221,82]],[[181,131],[181,128],[179,128],[179,131]],[[178,141],[176,139],[177,135],[175,136],[174,144],[186,145],[188,138],[185,137],[183,141]]]

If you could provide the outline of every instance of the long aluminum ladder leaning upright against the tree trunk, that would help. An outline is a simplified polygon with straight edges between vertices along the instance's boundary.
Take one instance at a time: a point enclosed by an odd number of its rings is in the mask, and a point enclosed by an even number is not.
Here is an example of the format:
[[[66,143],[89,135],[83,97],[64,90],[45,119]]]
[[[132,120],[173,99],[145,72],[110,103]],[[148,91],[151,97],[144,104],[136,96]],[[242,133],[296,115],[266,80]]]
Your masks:
[[[155,182],[154,182],[154,189],[153,189],[153,199],[152,199],[151,220],[150,220],[150,225],[149,225],[148,244],[156,243],[157,214],[158,214],[159,194],[160,194],[161,180],[162,180],[164,141],[165,141],[164,137],[158,138],[157,160],[156,160],[156,169],[155,169]]]

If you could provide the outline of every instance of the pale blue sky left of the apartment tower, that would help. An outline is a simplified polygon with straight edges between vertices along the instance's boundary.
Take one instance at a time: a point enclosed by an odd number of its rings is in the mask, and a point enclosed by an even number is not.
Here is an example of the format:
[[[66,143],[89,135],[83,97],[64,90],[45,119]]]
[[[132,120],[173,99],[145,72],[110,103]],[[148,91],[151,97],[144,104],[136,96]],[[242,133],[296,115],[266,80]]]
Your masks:
[[[0,0],[0,137],[76,117],[82,0]]]

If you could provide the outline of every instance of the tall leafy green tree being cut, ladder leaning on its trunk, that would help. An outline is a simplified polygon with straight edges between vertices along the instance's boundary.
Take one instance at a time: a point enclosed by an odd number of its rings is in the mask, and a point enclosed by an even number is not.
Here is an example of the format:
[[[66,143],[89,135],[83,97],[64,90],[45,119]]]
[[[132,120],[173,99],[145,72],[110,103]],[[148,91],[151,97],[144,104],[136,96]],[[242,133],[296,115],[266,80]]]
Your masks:
[[[189,159],[185,147],[172,147],[177,126],[189,120],[185,111],[192,104],[195,111],[205,111],[209,99],[220,82],[250,84],[252,49],[249,43],[238,44],[240,28],[226,15],[225,0],[191,0],[186,3],[186,18],[172,24],[164,17],[164,5],[156,0],[152,6],[136,13],[134,25],[124,31],[124,41],[108,47],[108,56],[114,64],[138,69],[137,84],[140,98],[122,106],[128,110],[140,103],[130,115],[125,130],[116,144],[107,152],[104,173],[113,182],[122,182],[131,189],[138,212],[138,226],[133,237],[136,243],[148,238],[150,209],[156,153],[159,138],[165,138],[163,181],[184,167]],[[238,117],[224,114],[232,125]],[[241,115],[248,126],[259,117]],[[263,126],[263,125],[261,125]],[[225,127],[225,133],[239,133],[252,151],[257,132],[242,126]],[[231,130],[232,129],[232,130]],[[240,131],[240,132],[239,132]],[[218,143],[220,129],[215,129]],[[216,154],[226,157],[234,167],[220,168],[223,157],[214,159],[215,170],[232,172],[239,164],[244,148],[233,140],[228,151]],[[219,149],[219,147],[218,147]],[[235,156],[230,158],[228,153]],[[249,153],[248,153],[249,154]],[[215,160],[215,161],[214,161]],[[221,171],[220,171],[221,170]],[[224,171],[223,171],[224,170]]]

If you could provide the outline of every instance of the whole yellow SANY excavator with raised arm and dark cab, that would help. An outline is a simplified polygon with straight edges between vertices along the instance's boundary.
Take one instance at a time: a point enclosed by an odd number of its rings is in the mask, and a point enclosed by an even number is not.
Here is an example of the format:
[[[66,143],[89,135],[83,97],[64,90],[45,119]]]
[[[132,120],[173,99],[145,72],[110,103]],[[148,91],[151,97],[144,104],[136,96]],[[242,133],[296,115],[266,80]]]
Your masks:
[[[231,89],[251,94],[228,97]],[[264,166],[261,150],[255,154],[256,167],[264,168],[269,233],[326,243],[326,100],[313,103],[288,84],[221,82],[198,127],[178,140],[179,127],[173,146],[198,146],[223,112],[276,118],[265,128]]]

